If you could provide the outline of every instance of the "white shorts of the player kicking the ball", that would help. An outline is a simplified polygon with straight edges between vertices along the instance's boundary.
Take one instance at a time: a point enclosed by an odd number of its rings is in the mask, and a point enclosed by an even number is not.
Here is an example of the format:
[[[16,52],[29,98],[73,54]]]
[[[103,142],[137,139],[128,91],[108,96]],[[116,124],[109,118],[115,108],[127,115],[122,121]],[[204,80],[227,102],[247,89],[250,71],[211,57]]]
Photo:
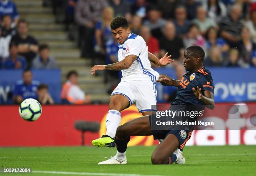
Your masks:
[[[113,94],[124,95],[132,104],[136,104],[138,111],[155,111],[156,112],[156,84],[153,81],[129,81],[120,82]],[[155,105],[155,106],[151,106]]]

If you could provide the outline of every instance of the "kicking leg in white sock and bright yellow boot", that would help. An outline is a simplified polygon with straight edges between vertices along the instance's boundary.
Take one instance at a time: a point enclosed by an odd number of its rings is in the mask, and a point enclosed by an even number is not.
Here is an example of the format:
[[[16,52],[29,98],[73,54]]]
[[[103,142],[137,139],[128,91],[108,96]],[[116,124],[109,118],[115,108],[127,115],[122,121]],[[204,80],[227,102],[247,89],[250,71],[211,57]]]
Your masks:
[[[113,94],[110,97],[109,111],[106,118],[106,134],[99,139],[92,141],[92,145],[97,147],[115,147],[115,133],[121,122],[120,112],[130,106],[131,102],[122,94]]]

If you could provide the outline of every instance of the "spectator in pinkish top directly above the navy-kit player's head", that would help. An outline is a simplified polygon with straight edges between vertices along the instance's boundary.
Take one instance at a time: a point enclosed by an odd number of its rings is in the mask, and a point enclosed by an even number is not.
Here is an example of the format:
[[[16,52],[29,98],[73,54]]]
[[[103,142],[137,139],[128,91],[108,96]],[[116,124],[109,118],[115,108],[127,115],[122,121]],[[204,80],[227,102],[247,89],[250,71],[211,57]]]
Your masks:
[[[189,32],[187,34],[187,37],[184,38],[183,42],[185,48],[191,45],[198,45],[205,50],[205,39],[200,34],[199,27],[196,24],[191,24],[189,26]]]

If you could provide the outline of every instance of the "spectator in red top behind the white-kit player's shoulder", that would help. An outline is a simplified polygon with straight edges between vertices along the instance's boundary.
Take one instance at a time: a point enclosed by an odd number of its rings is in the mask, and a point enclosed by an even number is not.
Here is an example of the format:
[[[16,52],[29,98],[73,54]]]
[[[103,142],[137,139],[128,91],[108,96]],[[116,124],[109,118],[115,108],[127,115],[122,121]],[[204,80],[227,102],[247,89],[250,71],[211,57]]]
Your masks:
[[[159,42],[158,40],[151,35],[151,32],[148,27],[143,26],[141,28],[141,37],[145,40],[146,44],[148,45],[148,52],[151,52],[156,57],[160,58],[160,49],[159,49]]]

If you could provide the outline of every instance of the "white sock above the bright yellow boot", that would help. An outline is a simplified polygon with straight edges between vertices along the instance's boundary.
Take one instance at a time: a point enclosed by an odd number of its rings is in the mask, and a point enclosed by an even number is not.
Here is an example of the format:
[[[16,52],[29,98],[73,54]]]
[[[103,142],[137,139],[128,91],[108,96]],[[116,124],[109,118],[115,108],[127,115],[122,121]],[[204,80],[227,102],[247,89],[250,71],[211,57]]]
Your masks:
[[[121,114],[117,110],[109,110],[106,118],[106,134],[110,137],[115,137],[116,129],[121,123]]]

